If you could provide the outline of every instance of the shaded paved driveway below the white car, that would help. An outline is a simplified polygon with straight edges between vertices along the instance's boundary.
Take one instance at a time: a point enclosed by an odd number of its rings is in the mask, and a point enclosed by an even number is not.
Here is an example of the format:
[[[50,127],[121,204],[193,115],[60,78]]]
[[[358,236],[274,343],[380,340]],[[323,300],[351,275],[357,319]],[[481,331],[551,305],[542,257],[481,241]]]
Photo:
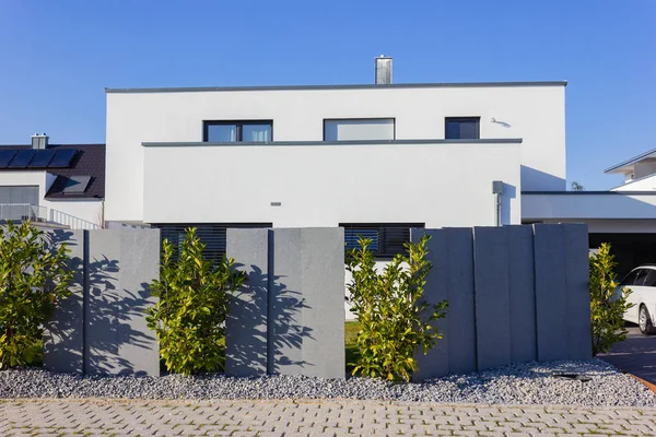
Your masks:
[[[629,339],[600,356],[613,366],[656,383],[656,335],[643,335],[637,327],[628,328]]]

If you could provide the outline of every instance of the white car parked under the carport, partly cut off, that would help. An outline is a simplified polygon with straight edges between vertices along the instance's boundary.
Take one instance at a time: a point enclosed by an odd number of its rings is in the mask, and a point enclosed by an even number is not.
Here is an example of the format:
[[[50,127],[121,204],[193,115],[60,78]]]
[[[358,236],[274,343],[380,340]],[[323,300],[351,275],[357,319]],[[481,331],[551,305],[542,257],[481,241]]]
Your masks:
[[[624,312],[624,320],[637,323],[643,334],[656,333],[656,265],[641,265],[620,283],[618,291],[631,290],[629,303],[633,307]]]

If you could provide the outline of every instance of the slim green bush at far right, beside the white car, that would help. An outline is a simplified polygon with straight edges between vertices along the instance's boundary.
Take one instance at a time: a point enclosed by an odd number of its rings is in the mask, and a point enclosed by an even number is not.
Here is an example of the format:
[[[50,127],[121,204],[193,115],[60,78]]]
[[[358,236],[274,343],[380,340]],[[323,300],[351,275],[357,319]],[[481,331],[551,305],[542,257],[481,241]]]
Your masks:
[[[606,353],[610,347],[626,340],[624,312],[633,307],[626,302],[631,293],[618,287],[614,268],[617,262],[610,253],[610,245],[602,244],[597,253],[590,255],[590,322],[593,329],[593,355]]]

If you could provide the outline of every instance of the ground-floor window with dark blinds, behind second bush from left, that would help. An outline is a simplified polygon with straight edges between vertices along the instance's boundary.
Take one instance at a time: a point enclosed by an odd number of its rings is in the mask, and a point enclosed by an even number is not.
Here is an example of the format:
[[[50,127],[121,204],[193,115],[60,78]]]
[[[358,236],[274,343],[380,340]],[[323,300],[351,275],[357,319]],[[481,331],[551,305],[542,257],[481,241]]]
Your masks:
[[[186,229],[196,227],[196,235],[206,245],[202,255],[212,262],[221,261],[225,253],[225,235],[229,227],[261,228],[272,227],[272,223],[177,223],[153,224],[160,229],[160,239],[168,239],[174,245],[173,258],[177,260],[179,249],[185,240]]]

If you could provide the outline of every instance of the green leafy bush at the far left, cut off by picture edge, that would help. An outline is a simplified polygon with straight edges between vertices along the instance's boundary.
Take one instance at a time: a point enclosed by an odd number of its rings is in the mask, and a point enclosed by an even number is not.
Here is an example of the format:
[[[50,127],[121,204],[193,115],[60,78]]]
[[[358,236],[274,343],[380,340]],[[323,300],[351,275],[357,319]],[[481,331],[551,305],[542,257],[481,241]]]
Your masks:
[[[0,369],[31,364],[43,349],[44,323],[70,294],[66,245],[23,222],[0,226]]]

